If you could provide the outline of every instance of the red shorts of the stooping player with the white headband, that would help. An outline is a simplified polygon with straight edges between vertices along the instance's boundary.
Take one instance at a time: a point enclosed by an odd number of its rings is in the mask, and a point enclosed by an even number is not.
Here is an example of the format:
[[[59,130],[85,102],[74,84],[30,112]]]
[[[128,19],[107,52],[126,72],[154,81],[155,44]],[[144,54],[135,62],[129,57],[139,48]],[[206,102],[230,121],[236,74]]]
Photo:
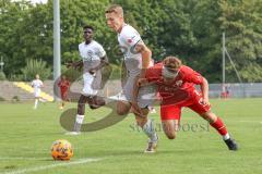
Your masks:
[[[203,114],[210,111],[211,105],[203,104],[202,96],[199,94],[194,94],[190,100],[183,102],[181,104],[168,104],[168,105],[160,105],[160,117],[162,121],[164,120],[180,120],[181,116],[181,109],[183,107],[190,108],[198,114]]]

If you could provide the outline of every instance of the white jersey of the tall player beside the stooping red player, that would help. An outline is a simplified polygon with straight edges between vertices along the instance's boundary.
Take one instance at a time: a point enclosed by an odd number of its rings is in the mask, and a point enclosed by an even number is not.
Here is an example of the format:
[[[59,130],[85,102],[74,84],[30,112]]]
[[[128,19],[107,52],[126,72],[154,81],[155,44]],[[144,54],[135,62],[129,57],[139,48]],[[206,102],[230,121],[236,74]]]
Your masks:
[[[140,34],[128,24],[124,24],[121,33],[118,34],[118,42],[130,76],[139,75],[142,69],[142,54],[135,51],[135,45],[141,40]]]

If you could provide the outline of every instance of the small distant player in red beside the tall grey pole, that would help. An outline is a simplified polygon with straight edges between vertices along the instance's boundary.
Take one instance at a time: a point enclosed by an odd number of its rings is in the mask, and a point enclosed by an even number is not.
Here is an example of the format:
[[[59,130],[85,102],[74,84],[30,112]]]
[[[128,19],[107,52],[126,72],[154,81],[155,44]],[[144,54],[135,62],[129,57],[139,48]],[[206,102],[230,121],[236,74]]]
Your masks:
[[[58,87],[60,88],[60,94],[62,99],[60,109],[63,109],[66,101],[69,101],[68,90],[70,87],[70,82],[67,79],[66,75],[62,75],[60,82],[58,83]]]

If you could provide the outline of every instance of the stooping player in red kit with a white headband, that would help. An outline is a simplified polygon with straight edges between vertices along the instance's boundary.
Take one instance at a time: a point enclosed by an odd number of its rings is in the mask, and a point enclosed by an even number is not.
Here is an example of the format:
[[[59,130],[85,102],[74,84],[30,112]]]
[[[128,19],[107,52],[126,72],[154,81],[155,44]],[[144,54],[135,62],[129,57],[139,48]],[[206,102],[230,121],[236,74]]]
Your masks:
[[[176,138],[181,109],[187,107],[206,120],[219,133],[229,150],[238,149],[222,119],[211,111],[209,83],[201,74],[183,65],[178,58],[167,57],[162,63],[147,69],[145,78],[138,80],[133,102],[136,102],[139,88],[148,84],[157,85],[162,99],[160,119],[164,132],[169,139]],[[201,91],[198,91],[194,85],[200,85]],[[135,110],[140,112],[139,108]]]

